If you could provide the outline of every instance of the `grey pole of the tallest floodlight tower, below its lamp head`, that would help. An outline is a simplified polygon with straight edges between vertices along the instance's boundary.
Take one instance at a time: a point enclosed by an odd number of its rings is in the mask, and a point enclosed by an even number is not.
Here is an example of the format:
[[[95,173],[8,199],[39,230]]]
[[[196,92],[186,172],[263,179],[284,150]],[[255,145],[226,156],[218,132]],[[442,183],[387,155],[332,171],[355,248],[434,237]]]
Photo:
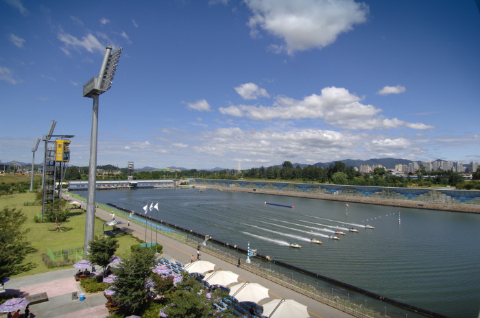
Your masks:
[[[88,193],[86,203],[84,252],[88,252],[88,242],[95,232],[95,190],[97,183],[97,140],[98,140],[98,97],[93,96],[92,135],[90,139],[90,164],[88,164]]]

